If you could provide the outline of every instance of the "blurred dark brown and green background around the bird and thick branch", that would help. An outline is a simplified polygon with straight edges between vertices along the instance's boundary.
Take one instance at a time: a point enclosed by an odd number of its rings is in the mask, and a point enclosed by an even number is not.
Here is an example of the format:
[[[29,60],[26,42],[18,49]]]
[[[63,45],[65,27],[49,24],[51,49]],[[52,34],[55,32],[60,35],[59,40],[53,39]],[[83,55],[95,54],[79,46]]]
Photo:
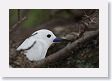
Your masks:
[[[69,33],[96,31],[99,29],[98,9],[10,9],[9,10],[9,65],[14,68],[30,68],[24,55],[18,55],[16,48],[34,31],[49,29],[57,37]],[[68,42],[52,45],[47,56],[64,48]],[[46,56],[46,57],[47,57]],[[34,63],[35,64],[35,63]],[[70,56],[59,59],[44,68],[98,68],[99,37],[70,52]]]

